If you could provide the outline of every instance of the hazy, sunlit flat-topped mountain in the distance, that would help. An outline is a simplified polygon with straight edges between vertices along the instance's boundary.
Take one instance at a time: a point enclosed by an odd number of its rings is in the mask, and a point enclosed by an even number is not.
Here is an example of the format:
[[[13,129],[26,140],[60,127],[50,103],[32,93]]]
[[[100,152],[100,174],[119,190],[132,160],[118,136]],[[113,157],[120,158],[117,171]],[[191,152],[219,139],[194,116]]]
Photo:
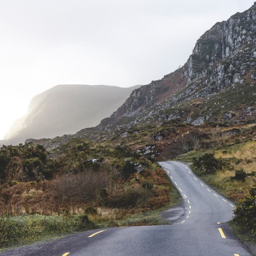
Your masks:
[[[4,143],[53,138],[96,126],[138,87],[57,85],[32,98],[28,114],[14,122]]]

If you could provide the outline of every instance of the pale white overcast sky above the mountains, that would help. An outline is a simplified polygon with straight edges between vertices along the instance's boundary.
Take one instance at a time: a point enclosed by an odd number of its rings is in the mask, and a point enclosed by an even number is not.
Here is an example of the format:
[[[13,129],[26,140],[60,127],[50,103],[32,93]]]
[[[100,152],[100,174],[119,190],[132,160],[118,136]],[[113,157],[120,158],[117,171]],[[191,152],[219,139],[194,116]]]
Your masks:
[[[0,139],[58,84],[129,87],[183,65],[253,0],[0,0]]]

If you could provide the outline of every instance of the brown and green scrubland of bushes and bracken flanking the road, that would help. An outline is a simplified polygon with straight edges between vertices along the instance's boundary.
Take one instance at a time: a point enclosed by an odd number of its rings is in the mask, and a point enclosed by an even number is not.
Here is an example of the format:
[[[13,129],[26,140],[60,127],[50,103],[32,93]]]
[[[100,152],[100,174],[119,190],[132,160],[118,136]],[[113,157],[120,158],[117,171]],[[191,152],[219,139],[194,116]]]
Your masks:
[[[156,164],[159,160],[178,157],[193,163],[207,183],[239,203],[256,183],[256,127],[217,126],[196,127],[171,120],[158,126],[130,126],[127,133],[121,130],[97,138],[94,134],[93,140],[73,138],[63,143],[63,138],[57,138],[56,145],[48,148],[32,143],[3,146],[2,246],[27,240],[22,230],[32,229],[30,223],[37,226],[41,218],[55,223],[56,229],[33,235],[35,240],[42,233],[165,223],[153,212],[174,205],[180,196]],[[88,222],[79,224],[79,216]],[[60,219],[66,224],[57,230]],[[7,233],[8,225],[21,229],[16,240]]]

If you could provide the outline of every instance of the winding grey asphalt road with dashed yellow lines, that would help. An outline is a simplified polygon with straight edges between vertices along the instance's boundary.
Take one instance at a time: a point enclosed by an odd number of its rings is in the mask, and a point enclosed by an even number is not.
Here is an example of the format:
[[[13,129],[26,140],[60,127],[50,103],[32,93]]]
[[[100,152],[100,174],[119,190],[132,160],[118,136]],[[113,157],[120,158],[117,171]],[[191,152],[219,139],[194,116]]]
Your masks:
[[[249,256],[224,223],[235,204],[201,181],[185,163],[161,162],[184,199],[174,224],[106,228],[11,249],[1,256]],[[105,231],[104,231],[105,230]],[[101,231],[100,233],[97,233]],[[96,233],[96,234],[95,234]],[[89,237],[90,235],[93,235]]]

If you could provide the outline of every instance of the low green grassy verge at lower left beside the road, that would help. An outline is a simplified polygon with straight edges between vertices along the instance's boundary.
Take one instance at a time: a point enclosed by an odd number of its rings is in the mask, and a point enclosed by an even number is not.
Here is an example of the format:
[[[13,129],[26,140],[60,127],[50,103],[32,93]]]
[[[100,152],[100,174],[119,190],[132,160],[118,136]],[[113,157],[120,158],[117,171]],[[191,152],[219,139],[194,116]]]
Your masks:
[[[0,247],[29,244],[58,235],[93,229],[86,215],[20,215],[0,219]]]

